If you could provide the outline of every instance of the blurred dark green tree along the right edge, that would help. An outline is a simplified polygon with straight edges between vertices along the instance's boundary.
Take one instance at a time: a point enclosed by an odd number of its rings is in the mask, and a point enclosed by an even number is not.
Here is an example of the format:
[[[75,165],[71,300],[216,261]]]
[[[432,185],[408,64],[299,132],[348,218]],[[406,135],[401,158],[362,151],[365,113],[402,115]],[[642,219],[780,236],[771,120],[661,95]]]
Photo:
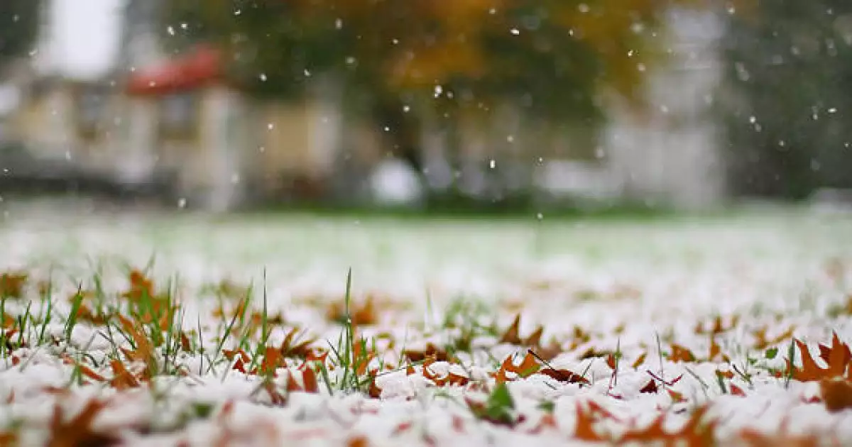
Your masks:
[[[852,3],[755,3],[728,14],[723,49],[718,106],[735,191],[852,187]]]

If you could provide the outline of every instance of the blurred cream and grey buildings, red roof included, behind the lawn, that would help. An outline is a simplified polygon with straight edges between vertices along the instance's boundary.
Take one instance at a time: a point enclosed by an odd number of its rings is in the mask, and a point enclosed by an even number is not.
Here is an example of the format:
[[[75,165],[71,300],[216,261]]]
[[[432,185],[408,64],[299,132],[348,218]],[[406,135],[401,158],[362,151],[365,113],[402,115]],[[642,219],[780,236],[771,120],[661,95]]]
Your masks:
[[[166,54],[153,0],[92,0],[83,11],[89,16],[77,20],[101,20],[88,38],[106,44],[95,46],[99,54],[89,54],[84,40],[72,49],[66,34],[80,29],[61,25],[80,13],[70,4],[54,0],[45,14],[37,69],[7,113],[14,138],[39,160],[118,185],[162,186],[181,203],[207,209],[334,192],[371,198],[400,185],[406,197],[415,195],[412,178],[421,176],[404,179],[400,169],[389,175],[380,166],[381,129],[343,113],[333,82],[298,103],[251,98],[223,76],[227,60],[216,48]],[[582,126],[530,123],[507,105],[484,126],[461,123],[461,148],[451,153],[446,133],[427,119],[423,179],[440,187],[459,177],[463,192],[486,199],[533,190],[554,200],[719,203],[725,175],[705,110],[717,83],[720,30],[709,13],[673,11],[670,21],[671,64],[651,73],[653,112],[613,106],[602,146]]]

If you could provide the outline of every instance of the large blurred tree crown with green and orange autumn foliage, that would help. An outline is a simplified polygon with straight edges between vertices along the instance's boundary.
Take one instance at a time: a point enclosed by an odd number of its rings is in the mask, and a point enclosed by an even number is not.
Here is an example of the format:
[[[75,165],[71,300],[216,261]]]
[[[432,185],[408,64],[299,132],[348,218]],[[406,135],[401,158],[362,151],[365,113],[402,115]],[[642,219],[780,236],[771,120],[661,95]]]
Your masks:
[[[296,98],[318,77],[341,83],[389,148],[421,169],[424,115],[452,135],[498,106],[594,133],[601,94],[642,106],[665,7],[699,0],[173,0],[181,47],[213,41],[265,97]],[[180,26],[178,26],[180,25]]]

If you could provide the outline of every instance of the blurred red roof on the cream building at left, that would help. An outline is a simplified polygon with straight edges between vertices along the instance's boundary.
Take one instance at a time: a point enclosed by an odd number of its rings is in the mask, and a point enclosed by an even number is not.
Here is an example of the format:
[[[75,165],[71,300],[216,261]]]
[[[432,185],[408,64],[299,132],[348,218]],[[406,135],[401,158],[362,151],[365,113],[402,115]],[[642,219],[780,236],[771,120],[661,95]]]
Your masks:
[[[161,65],[130,73],[126,91],[130,95],[165,95],[203,87],[221,76],[222,53],[202,46]]]

